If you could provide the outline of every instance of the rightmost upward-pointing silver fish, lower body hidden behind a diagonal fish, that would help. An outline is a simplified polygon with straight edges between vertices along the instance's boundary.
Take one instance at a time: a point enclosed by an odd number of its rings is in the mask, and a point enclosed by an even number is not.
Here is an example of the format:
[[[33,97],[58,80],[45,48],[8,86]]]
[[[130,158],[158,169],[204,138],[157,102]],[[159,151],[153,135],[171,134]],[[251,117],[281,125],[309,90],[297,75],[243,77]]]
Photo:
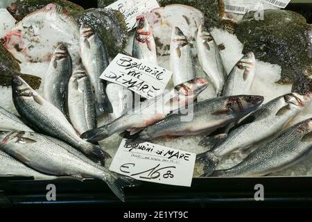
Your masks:
[[[254,53],[245,54],[233,67],[223,87],[223,96],[234,96],[250,93],[256,74],[256,58]]]

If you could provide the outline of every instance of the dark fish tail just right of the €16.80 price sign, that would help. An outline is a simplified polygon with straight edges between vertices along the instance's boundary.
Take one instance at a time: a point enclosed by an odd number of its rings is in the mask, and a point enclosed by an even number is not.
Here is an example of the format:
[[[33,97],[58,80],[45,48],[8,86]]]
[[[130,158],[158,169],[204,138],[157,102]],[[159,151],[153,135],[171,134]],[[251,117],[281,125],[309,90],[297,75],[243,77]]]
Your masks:
[[[202,168],[202,177],[210,176],[219,163],[218,157],[211,152],[205,152],[196,156],[196,165]]]

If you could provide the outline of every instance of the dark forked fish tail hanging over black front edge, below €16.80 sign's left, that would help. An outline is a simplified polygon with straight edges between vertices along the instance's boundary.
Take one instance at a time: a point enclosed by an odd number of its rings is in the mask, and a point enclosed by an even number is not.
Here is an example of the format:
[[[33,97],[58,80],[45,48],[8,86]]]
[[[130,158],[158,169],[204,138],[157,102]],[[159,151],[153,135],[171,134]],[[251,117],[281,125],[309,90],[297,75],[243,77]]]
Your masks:
[[[123,202],[125,201],[123,189],[125,187],[137,187],[140,185],[140,182],[137,180],[117,173],[111,173],[110,176],[103,175],[102,180],[107,183],[108,187],[110,187],[119,200]]]

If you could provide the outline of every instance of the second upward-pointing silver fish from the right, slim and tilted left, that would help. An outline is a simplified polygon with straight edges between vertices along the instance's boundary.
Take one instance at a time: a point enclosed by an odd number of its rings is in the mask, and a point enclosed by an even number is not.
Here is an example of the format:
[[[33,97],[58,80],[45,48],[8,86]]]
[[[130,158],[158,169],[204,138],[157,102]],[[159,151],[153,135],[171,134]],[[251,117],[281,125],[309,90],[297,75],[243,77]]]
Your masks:
[[[198,28],[196,43],[198,60],[200,62],[200,65],[207,74],[208,78],[214,84],[217,96],[220,96],[220,94],[222,93],[223,85],[225,84],[225,81],[227,79],[227,71],[223,66],[220,52],[218,50],[218,45],[216,44],[216,41],[214,40],[214,37],[211,35],[211,33],[209,33],[209,31],[207,31],[207,28],[202,25],[200,25],[200,27]]]

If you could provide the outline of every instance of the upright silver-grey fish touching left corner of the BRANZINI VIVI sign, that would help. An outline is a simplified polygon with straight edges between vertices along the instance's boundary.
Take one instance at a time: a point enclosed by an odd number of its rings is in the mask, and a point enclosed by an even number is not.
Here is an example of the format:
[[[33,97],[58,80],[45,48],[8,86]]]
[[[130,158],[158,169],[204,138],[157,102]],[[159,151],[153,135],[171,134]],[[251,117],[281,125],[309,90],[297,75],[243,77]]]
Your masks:
[[[105,94],[105,83],[100,76],[109,65],[107,50],[93,29],[82,24],[80,27],[80,56],[87,70],[95,95],[96,115],[101,117],[104,111],[112,112],[112,105]]]

